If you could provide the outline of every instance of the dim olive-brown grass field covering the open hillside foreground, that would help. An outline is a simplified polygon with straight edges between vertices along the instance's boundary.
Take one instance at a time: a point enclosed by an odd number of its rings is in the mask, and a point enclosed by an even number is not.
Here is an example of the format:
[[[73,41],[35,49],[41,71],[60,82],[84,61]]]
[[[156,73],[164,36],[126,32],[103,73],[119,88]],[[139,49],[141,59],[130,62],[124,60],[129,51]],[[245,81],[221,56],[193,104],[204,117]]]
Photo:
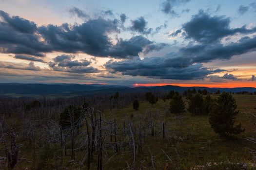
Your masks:
[[[191,113],[185,112],[182,117],[176,117],[169,113],[168,100],[163,102],[160,99],[153,106],[149,102],[140,102],[138,111],[135,111],[132,105],[119,110],[105,110],[104,117],[105,119],[115,118],[118,124],[121,124],[124,119],[131,119],[131,117],[133,117],[132,119],[138,119],[139,116],[152,114],[156,126],[156,135],[147,137],[143,141],[142,152],[137,151],[136,169],[191,170],[195,168],[198,170],[226,170],[228,167],[230,170],[239,170],[241,166],[235,163],[247,163],[248,169],[254,169],[250,168],[250,165],[256,162],[256,157],[254,157],[250,149],[256,150],[256,145],[244,138],[250,136],[254,128],[251,113],[256,114],[256,95],[233,96],[236,98],[238,110],[240,111],[236,122],[241,123],[242,128],[245,128],[245,132],[239,134],[236,138],[225,140],[219,138],[213,131],[209,124],[208,116],[191,116]],[[216,97],[214,96],[214,98]],[[166,136],[164,139],[161,134],[158,134],[157,130],[160,129],[158,126],[161,126],[161,122],[166,122]],[[20,156],[24,156],[27,160],[32,160],[32,147],[25,144],[20,148]],[[42,159],[46,159],[44,164],[54,164],[55,158],[52,156],[47,157],[47,154],[50,154],[55,149],[50,145],[43,148],[38,146],[35,168],[40,169]],[[103,152],[103,169],[126,169],[132,161],[131,154],[131,151],[115,153],[113,150],[107,150]],[[81,168],[79,166],[79,161],[83,155],[82,151],[78,151],[76,153],[76,161],[73,163],[69,162],[70,155],[65,156],[63,167],[66,168],[63,168],[63,170],[86,169],[86,167]],[[97,169],[96,159],[97,157],[95,157],[91,165],[92,169]],[[29,170],[34,169],[32,163],[25,161],[18,164],[16,169],[21,170],[26,167]]]

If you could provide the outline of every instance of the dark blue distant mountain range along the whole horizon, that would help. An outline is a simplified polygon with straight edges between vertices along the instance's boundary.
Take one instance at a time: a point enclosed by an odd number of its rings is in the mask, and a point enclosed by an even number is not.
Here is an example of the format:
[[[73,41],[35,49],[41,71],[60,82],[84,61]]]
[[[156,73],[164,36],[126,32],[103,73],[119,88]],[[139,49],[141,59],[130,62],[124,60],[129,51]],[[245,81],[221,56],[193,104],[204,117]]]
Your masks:
[[[170,91],[175,90],[184,92],[187,89],[206,89],[211,93],[217,90],[221,92],[255,92],[254,87],[237,87],[237,88],[209,88],[209,87],[181,87],[177,85],[164,85],[152,87],[128,87],[119,85],[80,85],[80,84],[20,84],[20,83],[2,83],[0,84],[0,96],[74,96],[74,95],[93,95],[108,93],[131,93],[131,92],[148,92],[148,91]]]

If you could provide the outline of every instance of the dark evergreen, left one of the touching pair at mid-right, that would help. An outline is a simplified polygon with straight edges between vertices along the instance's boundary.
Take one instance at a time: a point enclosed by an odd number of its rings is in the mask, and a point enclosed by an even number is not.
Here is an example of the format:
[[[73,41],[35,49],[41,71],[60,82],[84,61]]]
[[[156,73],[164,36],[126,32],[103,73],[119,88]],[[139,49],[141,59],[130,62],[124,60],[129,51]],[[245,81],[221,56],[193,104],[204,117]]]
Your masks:
[[[202,115],[203,114],[203,97],[199,93],[192,96],[189,100],[188,111],[192,115]]]

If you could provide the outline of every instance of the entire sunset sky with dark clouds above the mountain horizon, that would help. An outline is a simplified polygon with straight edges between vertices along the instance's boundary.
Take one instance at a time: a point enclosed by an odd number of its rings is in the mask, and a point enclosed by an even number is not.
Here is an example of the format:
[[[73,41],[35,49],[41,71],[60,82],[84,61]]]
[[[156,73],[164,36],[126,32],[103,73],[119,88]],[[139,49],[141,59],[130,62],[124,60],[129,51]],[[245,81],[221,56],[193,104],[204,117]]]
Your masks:
[[[0,83],[256,87],[256,0],[0,0]]]

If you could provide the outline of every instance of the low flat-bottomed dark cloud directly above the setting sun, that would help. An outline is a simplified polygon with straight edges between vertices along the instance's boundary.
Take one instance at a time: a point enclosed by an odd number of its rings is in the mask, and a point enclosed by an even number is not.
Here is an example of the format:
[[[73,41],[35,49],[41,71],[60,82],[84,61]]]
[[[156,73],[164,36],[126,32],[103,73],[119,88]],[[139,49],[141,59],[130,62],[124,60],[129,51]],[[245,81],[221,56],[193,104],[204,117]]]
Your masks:
[[[105,67],[112,73],[121,72],[123,75],[145,76],[159,79],[196,80],[207,75],[220,72],[220,69],[208,69],[197,63],[184,68],[168,67],[160,58],[145,58],[143,60],[126,60],[121,62],[109,61]],[[155,62],[154,62],[155,61]],[[156,63],[157,61],[157,63]]]

